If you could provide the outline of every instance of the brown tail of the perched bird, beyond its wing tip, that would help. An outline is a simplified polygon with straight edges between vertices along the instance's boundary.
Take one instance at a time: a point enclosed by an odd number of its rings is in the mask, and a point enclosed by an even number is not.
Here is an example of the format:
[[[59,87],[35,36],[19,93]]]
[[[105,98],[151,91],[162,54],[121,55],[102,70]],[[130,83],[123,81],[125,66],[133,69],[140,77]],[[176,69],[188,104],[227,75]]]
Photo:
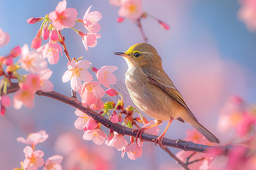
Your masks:
[[[204,128],[203,125],[201,125],[198,121],[194,120],[191,124],[197,131],[199,131],[202,135],[204,135],[205,138],[208,139],[208,141],[213,143],[220,143],[220,140],[212,134],[208,129]]]

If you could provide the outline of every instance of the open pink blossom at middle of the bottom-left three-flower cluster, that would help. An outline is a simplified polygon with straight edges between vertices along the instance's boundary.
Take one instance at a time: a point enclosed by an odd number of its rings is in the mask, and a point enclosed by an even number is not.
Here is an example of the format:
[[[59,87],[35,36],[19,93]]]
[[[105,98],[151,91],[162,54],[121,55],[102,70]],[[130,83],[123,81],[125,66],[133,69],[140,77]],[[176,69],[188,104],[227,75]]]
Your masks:
[[[22,167],[27,170],[38,169],[39,167],[43,167],[44,160],[42,156],[44,156],[44,152],[41,150],[34,151],[31,146],[26,146],[23,150],[25,154],[25,159],[23,161]]]

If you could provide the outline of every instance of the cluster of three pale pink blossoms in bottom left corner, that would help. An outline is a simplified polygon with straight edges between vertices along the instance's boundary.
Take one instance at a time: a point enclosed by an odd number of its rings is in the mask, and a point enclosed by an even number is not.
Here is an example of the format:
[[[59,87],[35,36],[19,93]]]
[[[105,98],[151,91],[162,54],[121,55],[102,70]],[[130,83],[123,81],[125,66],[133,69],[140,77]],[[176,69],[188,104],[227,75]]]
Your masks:
[[[42,143],[46,141],[48,138],[48,134],[44,130],[40,130],[36,133],[31,133],[25,139],[23,137],[17,138],[17,141],[20,143],[24,143],[28,146],[24,147],[23,152],[25,154],[25,159],[23,162],[20,162],[20,168],[14,168],[14,170],[23,170],[23,169],[38,169],[39,167],[43,167],[43,170],[61,170],[62,167],[60,163],[63,160],[63,156],[61,155],[53,155],[49,157],[46,162],[43,160],[44,152],[41,150],[35,150],[35,146],[38,143]]]

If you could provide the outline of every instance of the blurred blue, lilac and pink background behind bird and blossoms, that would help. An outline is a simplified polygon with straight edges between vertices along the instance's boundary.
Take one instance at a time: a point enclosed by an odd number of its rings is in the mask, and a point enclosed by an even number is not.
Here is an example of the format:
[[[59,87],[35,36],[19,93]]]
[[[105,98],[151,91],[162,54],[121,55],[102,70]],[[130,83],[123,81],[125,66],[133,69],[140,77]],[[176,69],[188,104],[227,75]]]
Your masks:
[[[59,1],[1,0],[0,28],[9,33],[11,40],[0,48],[0,56],[8,54],[14,46],[30,46],[40,23],[28,24],[26,20],[49,14],[55,10],[57,3]],[[89,52],[86,52],[81,37],[71,29],[64,29],[61,32],[65,36],[68,52],[71,57],[84,56],[98,69],[105,65],[117,66],[118,70],[114,72],[117,82],[125,84],[127,65],[121,57],[112,53],[123,52],[131,45],[142,42],[139,29],[128,19],[117,23],[119,8],[109,5],[106,0],[67,1],[67,7],[76,8],[77,18],[82,18],[90,5],[93,5],[90,11],[100,11],[102,14],[99,22],[101,30],[98,32],[101,38],[95,48],[89,48]],[[162,56],[164,70],[188,107],[201,124],[225,145],[232,134],[218,128],[217,122],[229,97],[238,95],[250,104],[256,101],[256,34],[238,20],[240,3],[221,0],[147,0],[142,1],[142,6],[144,12],[170,25],[170,30],[166,31],[152,18],[141,19],[148,43],[155,46]],[[85,32],[80,23],[76,23],[75,28]],[[46,42],[43,41],[43,44]],[[67,59],[62,56],[56,65],[48,67],[53,70],[50,78],[55,85],[53,89],[71,95],[69,82],[62,83],[61,79],[67,70]],[[123,95],[126,96],[125,106],[133,105],[127,92]],[[112,100],[117,99],[114,97]],[[69,169],[72,164],[76,169],[180,169],[166,152],[153,143],[145,142],[142,157],[133,161],[127,155],[122,159],[121,152],[114,148],[82,141],[82,131],[73,126],[77,118],[74,112],[75,109],[69,105],[43,96],[35,96],[35,107],[32,109],[23,107],[17,111],[13,107],[7,108],[6,115],[0,117],[1,169],[19,167],[19,162],[24,160],[25,145],[16,142],[16,138],[39,130],[46,130],[49,134],[46,142],[36,146],[36,149],[44,151],[44,160],[55,154],[69,153],[64,155],[64,169]],[[167,122],[164,122],[160,126],[160,133],[166,125]],[[102,129],[108,132],[106,128]],[[166,137],[183,139],[187,129],[192,129],[192,126],[174,121]],[[126,139],[129,140],[129,137]],[[171,151],[176,153],[179,150],[171,148]]]

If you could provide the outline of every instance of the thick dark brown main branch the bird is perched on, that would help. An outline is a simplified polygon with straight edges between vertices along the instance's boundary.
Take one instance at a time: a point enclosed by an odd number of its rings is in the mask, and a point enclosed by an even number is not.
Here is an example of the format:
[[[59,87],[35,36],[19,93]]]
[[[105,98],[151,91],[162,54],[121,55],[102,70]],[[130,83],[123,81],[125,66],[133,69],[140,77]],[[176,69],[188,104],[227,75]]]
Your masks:
[[[7,90],[8,93],[15,92],[19,89],[18,83],[13,83]],[[68,105],[71,105],[72,107],[78,109],[79,111],[88,114],[88,116],[94,118],[94,120],[97,120],[102,125],[106,126],[106,128],[112,129],[116,131],[119,134],[122,135],[129,135],[132,137],[136,137],[137,131],[133,131],[134,129],[127,128],[123,125],[113,123],[108,118],[105,118],[101,116],[101,114],[98,114],[97,112],[93,111],[89,107],[85,108],[82,106],[82,103],[77,100],[74,97],[68,97],[63,94],[59,94],[58,92],[52,91],[52,92],[43,92],[43,91],[37,91],[36,95],[38,96],[46,96],[51,97],[52,99],[59,100],[63,103],[66,103]],[[152,135],[148,133],[142,134],[142,140],[148,141],[148,142],[155,142],[157,135]],[[174,148],[178,148],[184,151],[195,151],[195,152],[207,152],[209,148],[221,148],[221,155],[227,155],[229,154],[230,150],[232,149],[233,145],[226,145],[226,146],[208,146],[208,145],[200,145],[193,142],[183,141],[180,139],[163,139],[163,145],[170,146]]]

